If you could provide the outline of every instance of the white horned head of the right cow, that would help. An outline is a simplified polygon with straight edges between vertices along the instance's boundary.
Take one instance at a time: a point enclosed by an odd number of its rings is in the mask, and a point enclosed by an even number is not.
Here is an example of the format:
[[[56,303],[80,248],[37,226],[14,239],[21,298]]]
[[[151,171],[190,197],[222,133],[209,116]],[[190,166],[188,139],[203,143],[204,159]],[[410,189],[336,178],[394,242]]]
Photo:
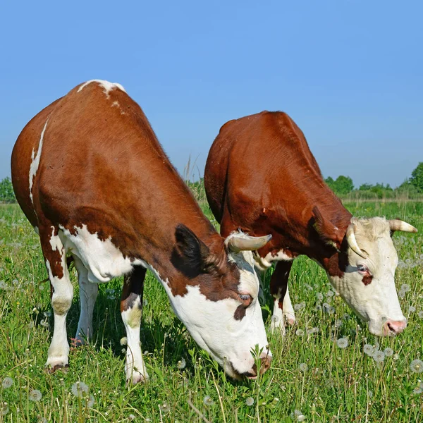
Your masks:
[[[351,219],[338,253],[342,272],[338,276],[328,272],[338,293],[376,336],[396,335],[407,326],[395,286],[398,255],[391,238],[393,231],[417,229],[381,217]]]

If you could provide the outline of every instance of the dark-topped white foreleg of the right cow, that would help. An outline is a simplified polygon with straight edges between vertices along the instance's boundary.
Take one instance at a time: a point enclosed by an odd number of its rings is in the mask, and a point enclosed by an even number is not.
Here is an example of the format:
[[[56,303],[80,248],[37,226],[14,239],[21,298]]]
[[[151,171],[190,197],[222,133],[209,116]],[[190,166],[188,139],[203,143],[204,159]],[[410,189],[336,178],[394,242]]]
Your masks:
[[[292,265],[292,261],[278,262],[270,280],[270,293],[275,299],[270,327],[272,331],[278,329],[282,334],[285,333],[285,321],[291,325],[295,324],[295,313],[288,290],[288,278]]]

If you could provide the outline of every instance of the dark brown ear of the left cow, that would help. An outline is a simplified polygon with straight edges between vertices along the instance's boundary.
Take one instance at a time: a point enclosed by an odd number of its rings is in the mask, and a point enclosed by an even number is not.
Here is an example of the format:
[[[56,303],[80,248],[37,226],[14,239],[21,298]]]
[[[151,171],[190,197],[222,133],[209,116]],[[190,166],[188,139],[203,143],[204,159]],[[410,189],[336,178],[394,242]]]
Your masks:
[[[190,278],[207,273],[212,265],[209,247],[182,223],[176,226],[175,238],[172,263],[176,269]]]

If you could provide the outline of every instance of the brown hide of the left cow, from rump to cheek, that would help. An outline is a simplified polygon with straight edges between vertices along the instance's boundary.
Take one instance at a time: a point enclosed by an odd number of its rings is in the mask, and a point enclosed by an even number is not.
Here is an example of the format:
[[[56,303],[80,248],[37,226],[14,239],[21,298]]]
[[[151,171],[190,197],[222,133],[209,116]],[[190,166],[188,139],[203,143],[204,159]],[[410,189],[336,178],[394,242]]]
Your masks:
[[[116,87],[79,87],[32,118],[13,149],[13,188],[42,244],[48,246],[51,226],[56,234],[59,225],[71,233],[87,225],[101,240],[111,238],[125,257],[143,259],[168,278],[173,295],[183,295],[191,284],[211,300],[236,298],[239,271],[228,262],[223,238],[166,157],[140,106]],[[44,125],[32,203],[30,166]],[[180,253],[192,245],[178,245],[180,225],[198,238],[207,269],[185,273]],[[51,267],[59,274],[56,255]]]

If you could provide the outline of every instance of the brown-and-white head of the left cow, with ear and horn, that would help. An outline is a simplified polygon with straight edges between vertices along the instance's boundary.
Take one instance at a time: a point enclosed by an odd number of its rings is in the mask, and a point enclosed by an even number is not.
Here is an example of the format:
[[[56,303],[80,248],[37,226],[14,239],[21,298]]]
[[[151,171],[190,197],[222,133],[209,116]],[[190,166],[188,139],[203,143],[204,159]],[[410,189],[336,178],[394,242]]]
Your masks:
[[[270,367],[252,256],[270,238],[232,233],[223,242],[216,234],[207,246],[186,226],[176,228],[172,262],[184,286],[175,292],[171,283],[165,285],[171,305],[198,345],[235,379],[257,376],[255,345],[262,349],[261,372]]]

